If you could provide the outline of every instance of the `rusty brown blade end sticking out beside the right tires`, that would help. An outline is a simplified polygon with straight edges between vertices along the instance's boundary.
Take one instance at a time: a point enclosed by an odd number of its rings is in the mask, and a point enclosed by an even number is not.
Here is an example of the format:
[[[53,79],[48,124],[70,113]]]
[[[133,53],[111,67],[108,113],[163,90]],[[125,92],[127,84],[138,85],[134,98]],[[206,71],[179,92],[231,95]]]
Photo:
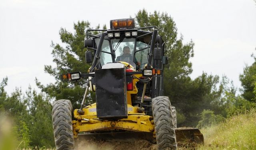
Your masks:
[[[198,128],[176,128],[175,134],[177,142],[204,144],[204,136]]]

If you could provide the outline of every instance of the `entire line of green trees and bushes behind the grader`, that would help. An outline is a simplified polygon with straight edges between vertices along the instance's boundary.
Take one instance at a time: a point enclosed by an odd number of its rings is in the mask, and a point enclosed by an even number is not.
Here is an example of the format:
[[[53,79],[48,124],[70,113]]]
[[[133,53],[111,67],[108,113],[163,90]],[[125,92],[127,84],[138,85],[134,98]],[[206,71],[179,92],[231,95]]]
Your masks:
[[[135,15],[136,27],[158,26],[158,32],[166,43],[169,64],[165,66],[164,95],[170,98],[176,107],[178,126],[202,128],[224,121],[225,118],[243,113],[256,106],[256,57],[255,62],[244,67],[239,80],[242,83],[242,94],[237,94],[232,81],[226,76],[217,76],[202,72],[195,79],[190,78],[194,56],[194,42],[184,43],[178,38],[176,24],[167,13],[149,13],[145,9]],[[90,22],[74,23],[74,33],[60,28],[62,44],[52,42],[53,62],[56,67],[45,65],[44,70],[55,77],[54,83],[43,85],[36,79],[41,89],[38,93],[28,88],[25,93],[16,88],[7,94],[4,87],[8,78],[0,84],[0,112],[12,118],[14,131],[19,147],[54,146],[52,131],[52,102],[69,99],[73,108],[79,108],[85,90],[85,80],[62,82],[60,74],[66,72],[87,72],[90,67],[85,63],[83,40]],[[96,27],[100,28],[100,25]],[[106,29],[106,25],[103,26]],[[93,34],[96,34],[94,32]],[[86,98],[87,103],[95,101],[94,93]]]

